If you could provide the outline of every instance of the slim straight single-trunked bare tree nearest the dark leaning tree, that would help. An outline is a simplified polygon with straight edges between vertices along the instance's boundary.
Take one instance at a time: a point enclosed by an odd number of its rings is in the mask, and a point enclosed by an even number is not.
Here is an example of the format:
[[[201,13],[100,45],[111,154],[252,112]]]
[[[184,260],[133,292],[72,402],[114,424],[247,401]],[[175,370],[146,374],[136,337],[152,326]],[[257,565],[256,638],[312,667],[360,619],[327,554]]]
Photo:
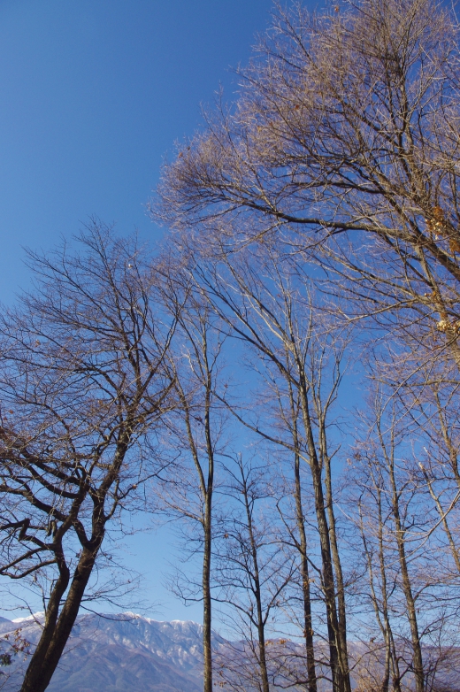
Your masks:
[[[213,505],[219,460],[227,453],[228,411],[219,400],[225,388],[225,334],[203,294],[171,254],[161,281],[165,311],[179,315],[165,366],[177,405],[165,418],[166,444],[175,461],[158,484],[159,506],[185,526],[186,552],[202,555],[199,586],[188,573],[177,590],[186,602],[203,602],[204,692],[212,690],[211,555]],[[165,268],[167,266],[167,271]],[[183,581],[183,580],[179,580]],[[198,586],[198,595],[196,588]]]

